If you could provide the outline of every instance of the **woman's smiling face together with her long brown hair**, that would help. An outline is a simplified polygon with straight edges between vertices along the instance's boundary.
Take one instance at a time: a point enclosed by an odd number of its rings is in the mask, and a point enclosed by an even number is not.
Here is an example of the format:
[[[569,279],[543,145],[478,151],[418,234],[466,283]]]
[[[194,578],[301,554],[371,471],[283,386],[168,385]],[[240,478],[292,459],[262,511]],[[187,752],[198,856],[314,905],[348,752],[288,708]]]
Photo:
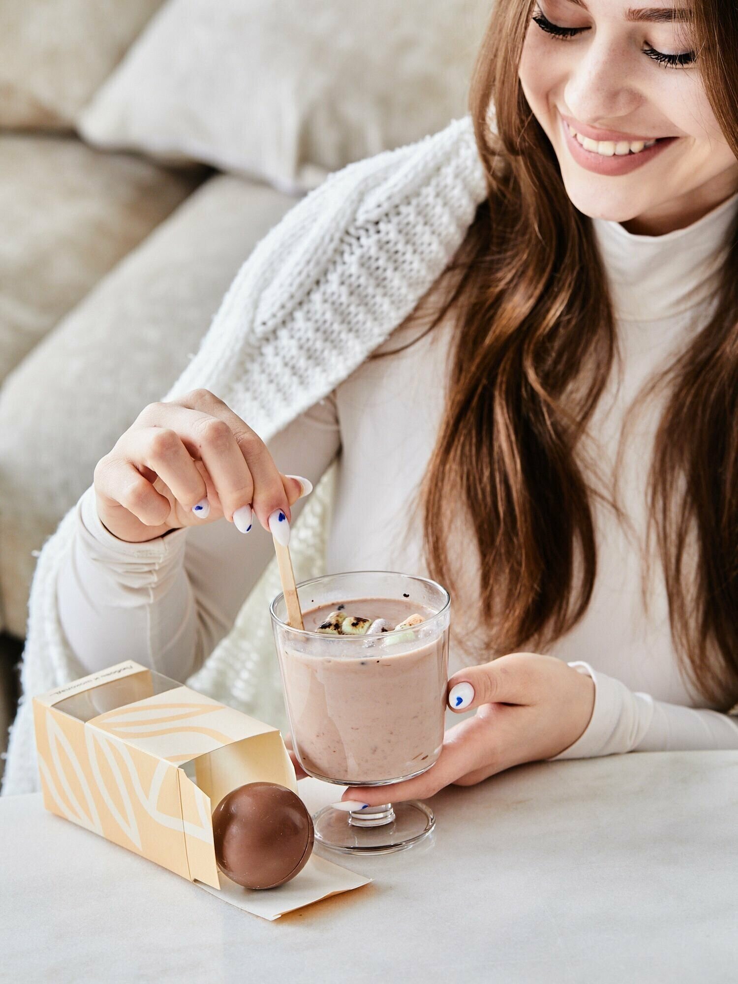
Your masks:
[[[731,34],[722,10],[499,0],[490,22],[471,96],[489,195],[454,265],[456,355],[425,502],[431,568],[447,583],[443,517],[455,497],[467,507],[497,651],[549,645],[594,584],[578,442],[624,339],[590,218],[656,236],[738,189],[738,22]],[[553,24],[574,36],[562,43]],[[652,57],[688,47],[699,70]],[[737,267],[734,251],[711,319],[660,367],[668,399],[650,472],[672,631],[688,674],[723,707],[738,700]]]

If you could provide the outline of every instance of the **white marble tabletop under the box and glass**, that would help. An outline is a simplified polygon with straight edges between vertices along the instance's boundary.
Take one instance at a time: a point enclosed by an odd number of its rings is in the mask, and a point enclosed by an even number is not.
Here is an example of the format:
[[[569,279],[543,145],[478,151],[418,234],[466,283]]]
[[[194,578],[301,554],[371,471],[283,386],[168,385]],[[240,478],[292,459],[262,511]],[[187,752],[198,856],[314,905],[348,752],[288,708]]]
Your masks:
[[[303,779],[311,810],[340,787]],[[267,922],[0,799],[0,979],[637,984],[738,980],[738,753],[514,769],[431,801],[374,881]]]

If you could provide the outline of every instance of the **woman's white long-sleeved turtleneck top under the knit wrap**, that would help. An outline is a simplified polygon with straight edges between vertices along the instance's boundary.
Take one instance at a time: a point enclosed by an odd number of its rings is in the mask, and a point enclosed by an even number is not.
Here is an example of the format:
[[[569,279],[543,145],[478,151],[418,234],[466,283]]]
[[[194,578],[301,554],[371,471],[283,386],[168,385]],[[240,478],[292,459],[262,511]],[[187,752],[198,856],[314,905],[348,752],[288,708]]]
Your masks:
[[[661,236],[635,235],[618,222],[592,219],[623,353],[622,378],[613,374],[589,425],[609,488],[626,408],[646,378],[706,323],[712,275],[736,210],[738,194],[692,225]],[[421,304],[419,316],[400,325],[379,350],[419,335],[422,309]],[[365,361],[270,442],[281,471],[314,483],[338,456],[329,571],[427,573],[413,503],[441,420],[453,331],[447,318],[404,351]],[[547,650],[595,683],[591,720],[559,758],[738,748],[738,722],[706,707],[679,672],[658,563],[647,585],[647,605],[642,596],[646,472],[660,408],[652,402],[638,417],[618,474],[619,501],[635,538],[611,511],[592,504],[594,591],[584,617]],[[301,505],[292,507],[293,517]],[[78,502],[77,519],[58,603],[67,639],[91,672],[135,658],[186,679],[228,633],[273,556],[271,535],[259,524],[246,535],[219,521],[146,544],[126,543],[97,517],[92,486]],[[475,645],[474,631],[464,633],[473,625],[476,560],[473,544],[464,548],[462,525],[458,529],[452,546],[463,560],[463,577],[454,598],[457,642],[453,636],[450,673],[488,658]]]

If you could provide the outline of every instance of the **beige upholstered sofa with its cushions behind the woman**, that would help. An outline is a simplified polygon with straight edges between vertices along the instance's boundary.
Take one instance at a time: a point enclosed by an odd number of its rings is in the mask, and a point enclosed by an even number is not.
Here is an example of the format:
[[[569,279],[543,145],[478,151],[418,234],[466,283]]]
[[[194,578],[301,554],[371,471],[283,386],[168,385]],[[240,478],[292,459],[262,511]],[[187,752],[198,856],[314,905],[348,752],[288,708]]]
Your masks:
[[[488,7],[0,0],[0,748],[44,539],[297,197],[464,112]]]

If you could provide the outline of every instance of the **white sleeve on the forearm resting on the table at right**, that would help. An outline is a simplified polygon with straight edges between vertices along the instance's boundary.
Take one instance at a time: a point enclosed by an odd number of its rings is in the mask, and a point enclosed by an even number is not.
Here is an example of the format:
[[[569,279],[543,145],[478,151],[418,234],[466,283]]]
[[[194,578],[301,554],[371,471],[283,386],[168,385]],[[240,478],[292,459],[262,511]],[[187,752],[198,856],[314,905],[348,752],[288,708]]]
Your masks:
[[[625,752],[738,748],[738,720],[717,710],[681,707],[633,692],[585,662],[569,663],[594,682],[594,708],[582,736],[550,761]]]

